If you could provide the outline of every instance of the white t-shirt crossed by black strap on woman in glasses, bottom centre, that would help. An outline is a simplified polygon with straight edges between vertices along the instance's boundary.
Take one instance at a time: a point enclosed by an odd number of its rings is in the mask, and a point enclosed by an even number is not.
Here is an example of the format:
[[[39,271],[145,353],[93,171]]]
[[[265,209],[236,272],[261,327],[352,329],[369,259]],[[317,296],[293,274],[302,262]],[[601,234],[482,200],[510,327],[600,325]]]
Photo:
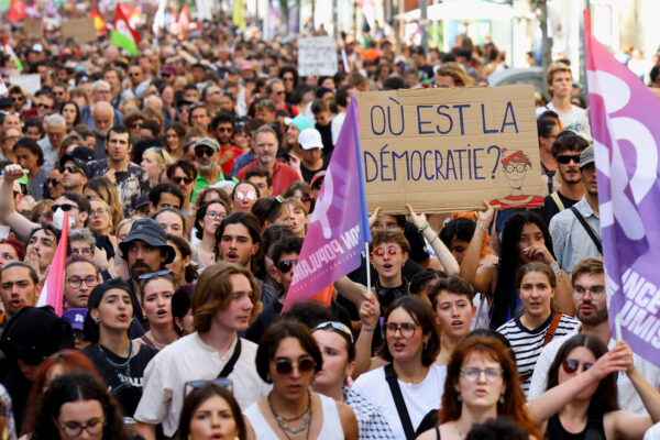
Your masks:
[[[428,411],[438,409],[442,405],[446,376],[447,367],[444,365],[431,365],[425,380],[417,385],[398,381],[413,429],[417,430],[421,419]],[[392,397],[389,385],[385,380],[384,366],[360,375],[352,389],[360,393],[362,397],[378,409],[383,418],[389,424],[395,438],[406,438],[394,397]]]

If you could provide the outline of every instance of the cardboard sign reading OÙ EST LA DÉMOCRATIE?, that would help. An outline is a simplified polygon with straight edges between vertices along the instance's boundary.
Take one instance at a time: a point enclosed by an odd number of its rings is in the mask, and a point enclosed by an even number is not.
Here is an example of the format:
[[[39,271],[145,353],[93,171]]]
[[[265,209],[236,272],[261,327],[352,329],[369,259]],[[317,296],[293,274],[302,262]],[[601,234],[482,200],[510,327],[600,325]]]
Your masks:
[[[367,208],[541,206],[534,87],[356,92]]]

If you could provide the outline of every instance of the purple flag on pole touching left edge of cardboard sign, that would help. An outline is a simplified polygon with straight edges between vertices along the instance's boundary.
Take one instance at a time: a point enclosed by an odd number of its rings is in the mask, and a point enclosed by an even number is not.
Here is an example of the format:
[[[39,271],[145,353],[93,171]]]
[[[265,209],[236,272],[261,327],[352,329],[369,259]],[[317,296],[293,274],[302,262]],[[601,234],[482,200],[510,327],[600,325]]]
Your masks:
[[[360,266],[371,241],[358,138],[358,103],[351,96],[346,118],[326,172],[283,312]]]

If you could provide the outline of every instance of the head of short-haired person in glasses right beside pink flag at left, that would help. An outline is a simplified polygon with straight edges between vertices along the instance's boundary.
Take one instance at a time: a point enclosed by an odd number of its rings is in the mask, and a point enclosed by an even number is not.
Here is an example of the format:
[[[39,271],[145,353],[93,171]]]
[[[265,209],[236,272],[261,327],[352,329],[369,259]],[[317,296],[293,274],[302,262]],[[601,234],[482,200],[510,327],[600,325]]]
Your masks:
[[[87,308],[89,294],[99,284],[99,267],[84,255],[74,254],[64,271],[64,299],[67,308]]]

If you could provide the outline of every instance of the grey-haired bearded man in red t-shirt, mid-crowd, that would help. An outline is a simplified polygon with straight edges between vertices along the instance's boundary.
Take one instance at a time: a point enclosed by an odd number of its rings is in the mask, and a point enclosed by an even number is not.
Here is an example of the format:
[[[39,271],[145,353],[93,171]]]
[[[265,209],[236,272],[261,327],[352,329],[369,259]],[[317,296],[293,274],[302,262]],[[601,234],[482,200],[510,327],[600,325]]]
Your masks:
[[[254,132],[255,160],[244,166],[238,174],[239,180],[245,178],[245,173],[252,168],[264,168],[271,173],[273,179],[273,196],[279,196],[294,182],[300,180],[298,172],[275,160],[279,142],[277,134],[270,125],[262,125]]]

